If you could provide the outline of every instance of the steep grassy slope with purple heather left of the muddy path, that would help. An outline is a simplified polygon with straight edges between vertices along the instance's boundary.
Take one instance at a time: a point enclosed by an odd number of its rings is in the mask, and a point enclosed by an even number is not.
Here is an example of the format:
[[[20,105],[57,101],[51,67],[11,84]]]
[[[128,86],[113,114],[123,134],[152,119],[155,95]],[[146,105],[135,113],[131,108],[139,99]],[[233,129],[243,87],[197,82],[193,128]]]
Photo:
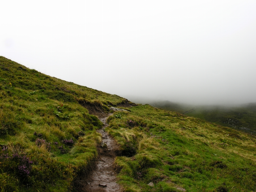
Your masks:
[[[1,191],[71,190],[101,142],[102,123],[87,109],[97,114],[128,104],[0,57]]]

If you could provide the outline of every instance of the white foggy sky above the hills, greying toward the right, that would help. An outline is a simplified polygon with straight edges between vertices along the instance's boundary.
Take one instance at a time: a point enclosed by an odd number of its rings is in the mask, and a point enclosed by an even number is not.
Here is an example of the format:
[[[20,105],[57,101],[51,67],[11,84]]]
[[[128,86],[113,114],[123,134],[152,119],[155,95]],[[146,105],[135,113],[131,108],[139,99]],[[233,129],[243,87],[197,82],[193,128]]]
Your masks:
[[[0,55],[130,99],[256,102],[256,1],[0,1]]]

